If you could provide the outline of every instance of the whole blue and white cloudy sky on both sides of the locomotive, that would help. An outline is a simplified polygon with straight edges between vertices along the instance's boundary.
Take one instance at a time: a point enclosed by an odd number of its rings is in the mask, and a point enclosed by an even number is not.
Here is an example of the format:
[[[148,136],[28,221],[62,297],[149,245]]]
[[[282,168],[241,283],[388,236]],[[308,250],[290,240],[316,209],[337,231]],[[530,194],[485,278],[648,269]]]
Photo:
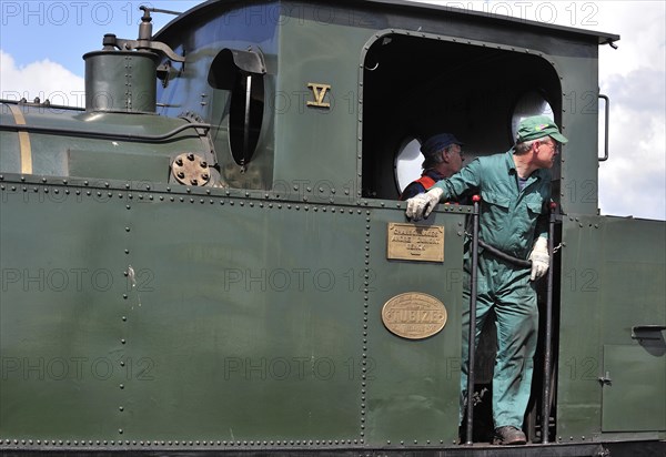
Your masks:
[[[610,97],[610,159],[599,167],[602,214],[666,220],[666,2],[425,1],[620,35],[599,51]],[[85,52],[104,33],[135,38],[140,4],[185,11],[200,1],[0,0],[0,98],[83,104]],[[154,14],[155,31],[172,17]]]

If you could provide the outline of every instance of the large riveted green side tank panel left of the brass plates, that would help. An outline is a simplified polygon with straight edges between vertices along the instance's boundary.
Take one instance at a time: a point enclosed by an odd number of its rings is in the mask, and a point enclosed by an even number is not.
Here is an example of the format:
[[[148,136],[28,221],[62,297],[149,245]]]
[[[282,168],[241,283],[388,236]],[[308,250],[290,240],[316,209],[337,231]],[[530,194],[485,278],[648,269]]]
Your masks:
[[[2,436],[360,438],[364,215],[105,192],[2,193]]]

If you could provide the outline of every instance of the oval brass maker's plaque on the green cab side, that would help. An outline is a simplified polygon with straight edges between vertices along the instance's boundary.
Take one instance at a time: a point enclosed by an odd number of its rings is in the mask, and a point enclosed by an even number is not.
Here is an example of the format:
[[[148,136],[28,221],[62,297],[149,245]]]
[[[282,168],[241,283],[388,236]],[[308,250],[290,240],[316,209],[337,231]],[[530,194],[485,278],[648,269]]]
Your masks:
[[[446,307],[431,295],[407,292],[394,296],[384,304],[382,322],[397,336],[423,339],[444,328]]]

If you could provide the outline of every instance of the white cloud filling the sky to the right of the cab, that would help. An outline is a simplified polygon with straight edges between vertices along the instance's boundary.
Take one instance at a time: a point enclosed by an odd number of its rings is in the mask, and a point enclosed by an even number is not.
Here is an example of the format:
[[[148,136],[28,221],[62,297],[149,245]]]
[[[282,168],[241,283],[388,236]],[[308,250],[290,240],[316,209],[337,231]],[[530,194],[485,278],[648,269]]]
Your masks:
[[[620,35],[618,49],[599,51],[601,91],[610,98],[599,206],[603,214],[666,220],[666,6],[598,3],[595,29]]]

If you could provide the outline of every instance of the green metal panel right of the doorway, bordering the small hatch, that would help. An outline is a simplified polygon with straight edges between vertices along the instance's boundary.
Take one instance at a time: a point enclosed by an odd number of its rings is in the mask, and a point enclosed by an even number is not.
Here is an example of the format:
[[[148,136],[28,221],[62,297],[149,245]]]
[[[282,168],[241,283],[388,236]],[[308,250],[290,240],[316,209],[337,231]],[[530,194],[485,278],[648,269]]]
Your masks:
[[[563,242],[557,434],[599,437],[604,345],[640,349],[632,327],[666,323],[666,224],[571,215]]]

